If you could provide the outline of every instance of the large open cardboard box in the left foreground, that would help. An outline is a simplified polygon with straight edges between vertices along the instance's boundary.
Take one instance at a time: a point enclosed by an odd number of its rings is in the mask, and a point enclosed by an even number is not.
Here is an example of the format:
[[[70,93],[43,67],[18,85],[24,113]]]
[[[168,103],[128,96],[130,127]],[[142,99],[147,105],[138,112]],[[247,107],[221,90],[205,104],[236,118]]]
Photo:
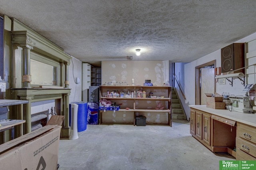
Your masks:
[[[50,123],[62,124],[62,116]],[[1,170],[56,170],[62,126],[46,125],[0,145]]]

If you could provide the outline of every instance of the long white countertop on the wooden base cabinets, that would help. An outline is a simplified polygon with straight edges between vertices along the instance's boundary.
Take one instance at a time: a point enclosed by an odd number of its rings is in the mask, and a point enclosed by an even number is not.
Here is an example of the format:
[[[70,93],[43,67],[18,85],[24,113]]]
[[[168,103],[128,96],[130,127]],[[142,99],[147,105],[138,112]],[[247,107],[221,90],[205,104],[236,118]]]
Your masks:
[[[226,109],[212,109],[206,107],[206,105],[189,105],[189,107],[256,127],[256,114],[240,113]]]

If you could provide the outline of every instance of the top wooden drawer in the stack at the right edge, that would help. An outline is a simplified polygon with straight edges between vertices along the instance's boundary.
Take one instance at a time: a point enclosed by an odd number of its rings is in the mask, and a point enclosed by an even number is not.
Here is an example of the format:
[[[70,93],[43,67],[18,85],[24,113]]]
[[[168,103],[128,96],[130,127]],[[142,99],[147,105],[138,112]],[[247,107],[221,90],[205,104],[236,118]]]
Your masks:
[[[254,144],[256,144],[256,129],[249,127],[249,126],[245,126],[242,124],[237,124],[237,129],[236,129],[236,137],[240,137],[242,139],[246,139],[247,141],[250,141]],[[254,129],[252,131],[252,129]]]

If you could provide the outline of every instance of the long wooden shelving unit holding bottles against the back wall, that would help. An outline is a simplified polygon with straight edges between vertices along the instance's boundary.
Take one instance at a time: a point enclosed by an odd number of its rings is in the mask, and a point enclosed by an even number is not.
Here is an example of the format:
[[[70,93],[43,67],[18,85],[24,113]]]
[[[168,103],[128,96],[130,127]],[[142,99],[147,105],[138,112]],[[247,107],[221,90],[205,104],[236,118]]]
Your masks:
[[[153,96],[164,96],[164,98],[107,98],[107,91],[128,93],[137,92],[140,89],[146,92],[153,92]],[[100,111],[99,123],[107,124],[134,124],[137,115],[148,117],[146,124],[170,125],[171,116],[171,87],[169,86],[100,86],[100,99],[110,100],[120,105],[118,111]],[[164,109],[156,109],[158,102],[161,102]],[[129,109],[126,109],[129,108]],[[113,113],[114,112],[114,113]]]

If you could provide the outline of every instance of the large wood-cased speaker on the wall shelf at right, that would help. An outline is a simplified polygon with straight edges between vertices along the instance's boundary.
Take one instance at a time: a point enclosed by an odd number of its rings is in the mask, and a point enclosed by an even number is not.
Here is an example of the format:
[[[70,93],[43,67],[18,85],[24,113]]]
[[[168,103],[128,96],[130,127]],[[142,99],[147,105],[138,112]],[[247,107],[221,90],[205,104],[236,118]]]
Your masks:
[[[221,72],[244,67],[244,43],[233,43],[221,49]],[[236,72],[243,72],[244,69]],[[236,73],[234,72],[234,73]]]

